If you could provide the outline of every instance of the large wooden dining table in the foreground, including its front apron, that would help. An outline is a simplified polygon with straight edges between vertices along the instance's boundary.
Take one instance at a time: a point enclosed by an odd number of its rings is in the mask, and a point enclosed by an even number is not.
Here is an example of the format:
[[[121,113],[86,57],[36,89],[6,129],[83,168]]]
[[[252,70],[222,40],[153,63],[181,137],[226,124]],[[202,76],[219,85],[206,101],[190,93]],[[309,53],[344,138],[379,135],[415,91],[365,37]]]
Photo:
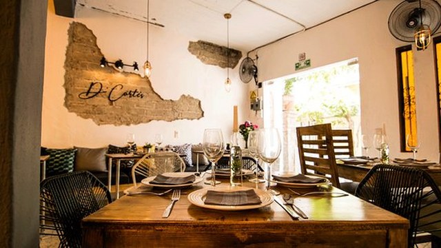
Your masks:
[[[351,195],[297,196],[294,203],[309,217],[298,220],[276,202],[258,209],[224,211],[198,207],[187,199],[197,189],[229,187],[227,178],[221,181],[216,187],[199,183],[182,189],[168,218],[162,214],[171,192],[122,196],[82,220],[83,247],[407,246],[407,219]],[[244,182],[243,187],[262,189],[264,184]],[[289,193],[285,187],[275,189]],[[300,193],[316,190],[296,189]],[[342,192],[331,186],[328,190]]]

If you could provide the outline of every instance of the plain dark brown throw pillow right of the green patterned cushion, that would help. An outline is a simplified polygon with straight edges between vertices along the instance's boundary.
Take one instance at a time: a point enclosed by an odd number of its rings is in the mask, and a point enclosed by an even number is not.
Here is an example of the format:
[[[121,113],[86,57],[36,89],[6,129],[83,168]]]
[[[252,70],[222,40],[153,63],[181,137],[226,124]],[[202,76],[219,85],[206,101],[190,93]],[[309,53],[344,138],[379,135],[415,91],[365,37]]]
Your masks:
[[[90,172],[107,172],[105,165],[105,153],[107,147],[86,148],[74,147],[76,149],[74,170],[87,170]]]

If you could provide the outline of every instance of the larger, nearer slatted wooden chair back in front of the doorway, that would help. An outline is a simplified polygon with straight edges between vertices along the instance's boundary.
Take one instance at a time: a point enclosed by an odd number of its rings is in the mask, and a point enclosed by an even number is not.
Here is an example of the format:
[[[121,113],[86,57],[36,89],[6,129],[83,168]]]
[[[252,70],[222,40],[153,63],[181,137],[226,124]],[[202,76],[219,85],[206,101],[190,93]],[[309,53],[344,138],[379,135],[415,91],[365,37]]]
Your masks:
[[[297,127],[296,131],[302,174],[328,176],[340,187],[331,124]]]

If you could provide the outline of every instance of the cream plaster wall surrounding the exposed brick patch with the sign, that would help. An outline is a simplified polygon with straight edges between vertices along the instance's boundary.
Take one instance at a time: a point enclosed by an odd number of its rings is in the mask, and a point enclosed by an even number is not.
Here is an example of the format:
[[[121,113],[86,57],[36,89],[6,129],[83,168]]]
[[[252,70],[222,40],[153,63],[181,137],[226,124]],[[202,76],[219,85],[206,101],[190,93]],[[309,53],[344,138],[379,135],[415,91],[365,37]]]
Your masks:
[[[156,133],[163,134],[163,144],[199,143],[203,130],[209,127],[223,129],[229,141],[233,123],[233,105],[238,105],[239,122],[245,121],[248,106],[247,85],[238,78],[238,66],[230,69],[232,91],[227,93],[224,81],[226,69],[205,65],[187,51],[188,42],[194,41],[174,32],[178,27],[158,28],[150,26],[149,60],[154,90],[163,99],[178,99],[189,94],[201,100],[204,117],[196,121],[152,121],[142,125],[119,126],[96,125],[68,112],[64,107],[64,59],[68,45],[68,27],[71,21],[79,21],[92,30],[97,37],[101,52],[109,61],[122,59],[125,63],[137,61],[141,66],[146,54],[146,24],[76,7],[76,18],[69,19],[54,14],[52,1],[48,9],[48,33],[45,50],[45,80],[43,91],[43,115],[41,145],[46,147],[102,147],[109,143],[125,145],[125,135],[136,134],[136,142],[154,142]],[[96,61],[99,63],[99,61]],[[126,68],[131,71],[131,68]],[[174,138],[174,131],[178,138]]]

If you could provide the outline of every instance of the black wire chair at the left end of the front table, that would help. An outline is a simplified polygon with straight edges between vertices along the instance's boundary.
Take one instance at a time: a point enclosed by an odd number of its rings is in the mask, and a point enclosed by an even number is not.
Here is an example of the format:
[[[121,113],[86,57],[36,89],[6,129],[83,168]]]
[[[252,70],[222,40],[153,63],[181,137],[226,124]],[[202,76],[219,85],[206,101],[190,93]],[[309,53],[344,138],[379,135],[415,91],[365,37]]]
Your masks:
[[[40,184],[40,234],[57,235],[59,247],[81,247],[81,219],[108,203],[109,190],[90,172],[46,178]]]

